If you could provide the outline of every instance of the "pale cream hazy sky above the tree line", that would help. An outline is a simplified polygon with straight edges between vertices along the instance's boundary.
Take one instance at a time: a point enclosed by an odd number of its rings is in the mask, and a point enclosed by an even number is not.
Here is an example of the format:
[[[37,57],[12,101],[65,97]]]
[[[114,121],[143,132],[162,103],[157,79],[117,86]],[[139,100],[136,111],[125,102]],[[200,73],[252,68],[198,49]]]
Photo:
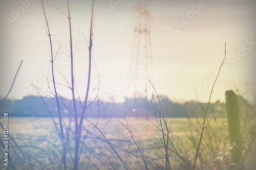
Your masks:
[[[52,35],[58,94],[71,98],[69,22],[67,1],[43,1]],[[139,0],[96,0],[93,21],[92,83],[90,99],[111,94],[115,102],[127,95],[127,79],[122,77],[131,65],[136,11]],[[70,1],[74,41],[76,96],[84,98],[88,78],[92,1]],[[112,4],[112,5],[111,5]],[[114,5],[113,5],[114,4]],[[225,99],[226,90],[254,101],[256,90],[256,2],[224,1],[151,1],[149,12],[152,57],[148,75],[159,95],[179,102],[207,102],[225,56],[212,101]],[[46,20],[39,0],[0,2],[0,96],[10,90],[20,62],[10,99],[37,95],[50,96],[50,44]],[[84,37],[81,35],[84,34]],[[58,51],[59,49],[59,51]],[[96,66],[95,66],[96,64]],[[143,71],[144,68],[141,68]],[[61,74],[60,74],[61,72]],[[134,81],[132,79],[131,81]],[[67,83],[68,82],[68,83]],[[51,87],[49,89],[48,87]],[[147,82],[148,88],[151,87]],[[117,90],[116,90],[117,89]],[[52,89],[53,90],[53,89]],[[153,91],[153,88],[151,88]],[[131,95],[130,95],[131,97]]]

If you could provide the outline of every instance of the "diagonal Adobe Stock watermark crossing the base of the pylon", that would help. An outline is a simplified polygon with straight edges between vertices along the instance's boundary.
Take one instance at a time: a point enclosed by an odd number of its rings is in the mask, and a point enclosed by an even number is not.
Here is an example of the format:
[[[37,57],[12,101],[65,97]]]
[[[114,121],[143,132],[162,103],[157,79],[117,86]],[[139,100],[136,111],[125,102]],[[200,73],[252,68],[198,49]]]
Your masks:
[[[124,71],[121,75],[122,80],[125,83],[129,83],[132,81],[132,79],[139,74],[141,69],[143,69],[146,64],[148,64],[151,61],[151,58],[144,58],[143,56],[139,57],[138,65],[134,65],[132,68],[127,69]],[[109,100],[118,94],[119,90],[122,90],[124,88],[124,83],[119,81],[116,82],[114,87],[107,88],[108,91],[104,93],[103,100],[100,99],[99,105],[97,103],[94,103],[92,105],[94,113],[97,113],[98,110],[101,110],[105,107],[105,103],[109,102]]]

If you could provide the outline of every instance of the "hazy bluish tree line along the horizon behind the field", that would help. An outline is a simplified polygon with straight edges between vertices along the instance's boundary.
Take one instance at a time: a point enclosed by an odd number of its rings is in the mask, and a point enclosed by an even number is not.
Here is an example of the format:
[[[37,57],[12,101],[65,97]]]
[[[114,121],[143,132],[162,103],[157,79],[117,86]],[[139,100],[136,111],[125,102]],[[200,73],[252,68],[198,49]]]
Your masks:
[[[161,109],[163,111],[162,114],[166,117],[193,117],[193,114],[197,117],[201,117],[203,108],[207,106],[207,103],[199,103],[197,101],[188,101],[185,103],[173,102],[164,95],[160,95],[159,98],[162,107]],[[241,103],[248,105],[248,102],[245,99],[242,97],[239,99]],[[2,100],[3,99],[0,101]],[[66,98],[61,98],[60,101],[62,116],[71,116],[73,114],[73,101]],[[80,102],[75,101],[75,103],[77,104],[77,111],[81,111],[82,107]],[[223,105],[223,103],[220,101],[211,103],[209,105],[209,113],[214,114],[221,105]],[[90,105],[86,110],[86,116],[125,116],[129,112],[133,111],[133,109],[145,109],[151,112],[155,117],[158,117],[159,115],[156,106],[158,106],[158,101],[154,99],[151,101],[147,101],[144,98],[125,99],[122,103],[114,103],[112,101],[103,103],[102,101],[96,100],[94,101],[94,104]],[[25,96],[22,100],[7,99],[3,105],[2,111],[8,112],[10,116],[58,116],[55,98],[35,95]],[[221,107],[219,109],[218,116],[226,116],[225,107]]]

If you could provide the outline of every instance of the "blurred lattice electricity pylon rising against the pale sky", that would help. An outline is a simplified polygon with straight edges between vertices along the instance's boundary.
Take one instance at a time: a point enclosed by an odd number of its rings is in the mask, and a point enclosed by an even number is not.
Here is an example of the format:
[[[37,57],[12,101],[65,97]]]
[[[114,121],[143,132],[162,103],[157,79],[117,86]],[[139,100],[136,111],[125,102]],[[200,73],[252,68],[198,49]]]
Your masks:
[[[153,98],[153,58],[151,47],[152,16],[149,12],[150,1],[141,0],[134,8],[136,23],[132,47],[131,68],[134,78],[128,85],[129,95],[133,99]]]

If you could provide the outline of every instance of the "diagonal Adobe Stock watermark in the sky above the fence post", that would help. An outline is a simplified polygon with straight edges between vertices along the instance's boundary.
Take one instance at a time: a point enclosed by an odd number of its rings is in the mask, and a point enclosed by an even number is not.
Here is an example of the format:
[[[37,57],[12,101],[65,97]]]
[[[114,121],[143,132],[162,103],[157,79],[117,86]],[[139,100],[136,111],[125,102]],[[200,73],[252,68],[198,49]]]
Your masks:
[[[250,51],[251,48],[256,44],[256,41],[252,41],[252,38],[245,39],[244,41],[245,41],[245,43],[243,44],[242,48],[240,48],[236,53],[232,53],[232,55],[229,55],[226,57],[227,63],[230,63],[231,66],[236,65],[237,61],[241,60],[245,56],[246,52]],[[226,74],[228,71],[229,71],[228,66],[223,64],[217,81],[221,80],[223,78],[223,75]],[[218,71],[212,71],[212,75],[213,76],[210,77],[209,80],[204,79],[203,88],[197,88],[199,98],[202,98],[203,94],[205,94],[205,93],[207,93],[207,91],[211,90],[211,88],[214,85],[214,82],[218,76]]]

